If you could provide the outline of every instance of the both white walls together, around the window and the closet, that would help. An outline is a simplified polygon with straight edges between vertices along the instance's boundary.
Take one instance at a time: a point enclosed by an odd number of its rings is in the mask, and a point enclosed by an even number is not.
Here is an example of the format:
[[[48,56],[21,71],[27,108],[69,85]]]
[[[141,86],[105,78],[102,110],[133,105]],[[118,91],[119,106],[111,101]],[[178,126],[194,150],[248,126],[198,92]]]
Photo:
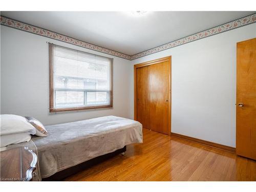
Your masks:
[[[45,124],[105,115],[133,118],[133,65],[172,55],[172,132],[228,146],[236,143],[236,43],[256,37],[256,24],[133,61],[1,26],[1,114]],[[49,114],[48,45],[114,58],[114,107]]]

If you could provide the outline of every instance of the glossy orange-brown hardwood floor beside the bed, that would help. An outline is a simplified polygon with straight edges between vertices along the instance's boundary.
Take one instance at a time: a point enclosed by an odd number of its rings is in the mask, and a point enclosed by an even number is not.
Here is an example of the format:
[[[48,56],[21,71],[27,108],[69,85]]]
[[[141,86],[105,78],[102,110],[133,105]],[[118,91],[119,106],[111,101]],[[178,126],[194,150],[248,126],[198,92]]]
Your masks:
[[[256,161],[143,129],[143,143],[66,181],[256,181]]]

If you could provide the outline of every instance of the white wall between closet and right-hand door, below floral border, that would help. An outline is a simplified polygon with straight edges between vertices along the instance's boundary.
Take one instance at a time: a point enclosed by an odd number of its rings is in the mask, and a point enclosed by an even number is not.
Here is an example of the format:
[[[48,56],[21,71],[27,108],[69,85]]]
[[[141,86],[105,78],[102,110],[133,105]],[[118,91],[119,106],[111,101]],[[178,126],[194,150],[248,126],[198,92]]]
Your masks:
[[[256,24],[133,60],[172,55],[172,132],[236,146],[236,43]]]

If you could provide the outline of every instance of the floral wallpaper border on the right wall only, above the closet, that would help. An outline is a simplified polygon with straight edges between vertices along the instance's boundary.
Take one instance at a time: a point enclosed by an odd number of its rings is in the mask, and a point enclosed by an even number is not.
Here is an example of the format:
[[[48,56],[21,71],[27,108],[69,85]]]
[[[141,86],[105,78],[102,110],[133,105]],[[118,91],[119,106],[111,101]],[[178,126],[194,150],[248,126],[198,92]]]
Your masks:
[[[143,51],[141,53],[135,54],[131,56],[131,60],[133,59],[137,59],[139,57],[143,57],[146,55],[150,55],[159,51],[163,51],[166,49],[170,49],[170,48],[174,48],[183,44],[187,44],[188,42],[192,42],[195,40],[199,40],[205,37],[209,37],[212,35],[216,35],[225,31],[229,31],[232,29],[236,29],[245,25],[249,25],[249,24],[253,24],[256,22],[256,13],[253,13],[251,15],[247,15],[245,17],[233,20],[232,22],[226,23],[226,24],[222,24],[220,26],[211,28],[211,29],[207,29],[205,31],[201,31],[199,33],[193,34],[193,35],[189,35],[187,37],[183,37],[180,38],[178,40],[172,41],[172,42],[168,42],[167,44],[164,44],[162,46],[158,46],[156,48],[153,49],[149,49],[146,51]]]

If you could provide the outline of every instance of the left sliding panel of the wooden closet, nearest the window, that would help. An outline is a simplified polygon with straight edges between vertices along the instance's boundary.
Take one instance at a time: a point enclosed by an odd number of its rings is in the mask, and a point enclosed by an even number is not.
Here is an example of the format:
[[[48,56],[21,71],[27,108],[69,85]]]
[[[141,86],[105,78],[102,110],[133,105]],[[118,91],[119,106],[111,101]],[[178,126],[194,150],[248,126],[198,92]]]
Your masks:
[[[150,129],[150,118],[148,110],[149,94],[148,66],[137,69],[137,121],[143,128]]]

